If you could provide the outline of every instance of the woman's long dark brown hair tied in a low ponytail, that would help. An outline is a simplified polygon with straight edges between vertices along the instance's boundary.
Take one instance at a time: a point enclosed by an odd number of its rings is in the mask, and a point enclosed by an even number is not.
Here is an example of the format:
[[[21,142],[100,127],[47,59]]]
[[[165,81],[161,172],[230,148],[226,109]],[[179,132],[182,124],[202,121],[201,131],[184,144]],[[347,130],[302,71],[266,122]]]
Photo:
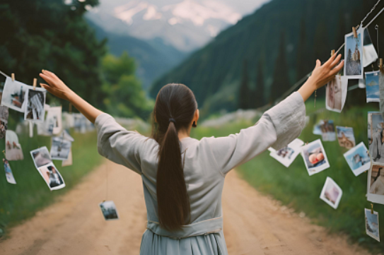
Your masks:
[[[178,131],[189,128],[196,109],[192,90],[182,84],[165,85],[156,97],[152,136],[160,146],[156,180],[158,220],[166,230],[179,230],[190,219]]]

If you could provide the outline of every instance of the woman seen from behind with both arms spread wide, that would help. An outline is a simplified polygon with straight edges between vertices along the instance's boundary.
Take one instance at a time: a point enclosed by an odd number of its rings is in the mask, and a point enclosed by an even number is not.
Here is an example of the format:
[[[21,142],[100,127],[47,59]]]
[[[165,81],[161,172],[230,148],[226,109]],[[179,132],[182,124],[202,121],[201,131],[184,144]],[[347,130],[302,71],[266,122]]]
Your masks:
[[[190,138],[199,109],[192,90],[165,85],[156,97],[151,138],[127,131],[110,115],[76,95],[54,73],[42,71],[41,84],[69,100],[98,131],[98,152],[141,175],[147,209],[147,230],[140,254],[228,254],[223,237],[221,191],[226,174],[270,146],[287,146],[306,124],[304,102],[342,69],[341,56],[321,66],[316,61],[308,81],[239,134]]]

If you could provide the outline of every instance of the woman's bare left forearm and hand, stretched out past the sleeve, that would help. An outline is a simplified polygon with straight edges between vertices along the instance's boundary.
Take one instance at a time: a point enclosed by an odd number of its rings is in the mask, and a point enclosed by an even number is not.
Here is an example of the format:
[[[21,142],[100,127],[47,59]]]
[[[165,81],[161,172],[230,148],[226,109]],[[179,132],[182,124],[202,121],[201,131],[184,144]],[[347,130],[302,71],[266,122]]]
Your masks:
[[[48,83],[48,85],[40,83],[42,88],[48,90],[52,95],[71,102],[71,104],[92,123],[95,123],[96,117],[103,113],[74,93],[74,91],[68,88],[54,73],[42,70],[40,77]]]

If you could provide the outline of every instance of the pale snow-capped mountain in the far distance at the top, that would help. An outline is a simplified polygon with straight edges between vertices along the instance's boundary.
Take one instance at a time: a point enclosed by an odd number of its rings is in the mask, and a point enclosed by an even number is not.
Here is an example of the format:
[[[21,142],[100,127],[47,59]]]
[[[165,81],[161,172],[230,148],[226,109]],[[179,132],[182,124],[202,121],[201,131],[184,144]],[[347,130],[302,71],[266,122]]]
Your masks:
[[[206,45],[221,30],[269,0],[100,0],[87,17],[107,32],[163,39],[180,51]]]

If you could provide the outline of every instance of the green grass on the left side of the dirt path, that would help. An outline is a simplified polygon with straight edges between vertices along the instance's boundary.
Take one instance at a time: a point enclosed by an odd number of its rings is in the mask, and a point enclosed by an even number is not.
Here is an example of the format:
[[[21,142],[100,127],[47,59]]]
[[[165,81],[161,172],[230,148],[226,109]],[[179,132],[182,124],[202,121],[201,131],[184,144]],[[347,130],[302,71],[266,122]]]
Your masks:
[[[0,174],[1,232],[32,217],[37,210],[56,201],[59,196],[80,182],[81,178],[91,172],[94,167],[100,165],[102,157],[98,155],[95,131],[87,134],[71,132],[71,135],[75,139],[72,143],[73,165],[62,167],[61,161],[54,160],[55,166],[64,178],[66,187],[52,192],[37,172],[30,156],[30,150],[38,147],[47,146],[50,149],[50,137],[36,134],[33,138],[29,138],[28,134],[18,136],[23,148],[24,160],[10,161],[17,184],[8,184],[4,172]],[[4,150],[4,143],[1,144],[0,151]]]

